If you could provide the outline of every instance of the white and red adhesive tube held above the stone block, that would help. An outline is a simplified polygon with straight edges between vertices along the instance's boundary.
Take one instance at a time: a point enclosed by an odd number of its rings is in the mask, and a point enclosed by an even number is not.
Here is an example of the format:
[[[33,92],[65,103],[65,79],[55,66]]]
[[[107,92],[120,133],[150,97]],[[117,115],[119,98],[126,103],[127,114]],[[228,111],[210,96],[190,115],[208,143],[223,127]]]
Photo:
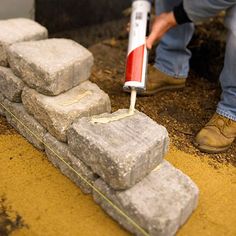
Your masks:
[[[146,37],[149,34],[150,12],[149,0],[133,1],[124,90],[146,88],[148,64]]]

